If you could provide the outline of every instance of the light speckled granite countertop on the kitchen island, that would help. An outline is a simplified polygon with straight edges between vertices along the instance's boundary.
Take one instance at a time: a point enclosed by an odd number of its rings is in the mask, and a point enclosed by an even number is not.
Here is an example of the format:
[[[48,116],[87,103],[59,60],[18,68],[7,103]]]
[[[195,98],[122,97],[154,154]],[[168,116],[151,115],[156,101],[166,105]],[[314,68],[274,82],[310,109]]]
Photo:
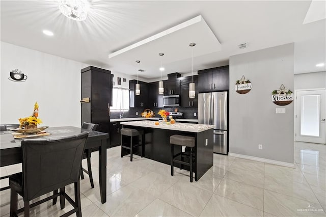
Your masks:
[[[213,125],[207,124],[193,124],[193,123],[175,123],[175,124],[163,124],[159,122],[158,125],[155,125],[155,121],[131,121],[131,122],[121,122],[122,125],[128,126],[138,126],[138,127],[149,127],[149,128],[157,128],[157,129],[170,129],[170,130],[178,130],[178,131],[186,131],[186,132],[202,132],[208,129],[212,129]]]

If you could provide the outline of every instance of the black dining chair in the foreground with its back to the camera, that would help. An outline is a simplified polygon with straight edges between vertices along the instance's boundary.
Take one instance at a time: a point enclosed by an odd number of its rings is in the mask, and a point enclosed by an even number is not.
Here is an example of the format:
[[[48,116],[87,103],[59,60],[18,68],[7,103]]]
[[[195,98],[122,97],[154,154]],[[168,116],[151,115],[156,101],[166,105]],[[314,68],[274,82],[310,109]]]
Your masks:
[[[24,211],[24,216],[30,216],[30,208],[53,199],[53,205],[60,196],[61,209],[65,207],[65,199],[73,209],[62,216],[76,212],[82,216],[80,207],[80,162],[85,150],[88,132],[56,139],[24,139],[22,147],[22,173],[9,177],[10,186],[10,216],[16,216]],[[66,193],[65,186],[74,183],[75,200]],[[60,192],[58,193],[58,189]],[[43,200],[30,204],[30,201],[53,192]],[[21,195],[24,207],[17,210],[17,196]]]

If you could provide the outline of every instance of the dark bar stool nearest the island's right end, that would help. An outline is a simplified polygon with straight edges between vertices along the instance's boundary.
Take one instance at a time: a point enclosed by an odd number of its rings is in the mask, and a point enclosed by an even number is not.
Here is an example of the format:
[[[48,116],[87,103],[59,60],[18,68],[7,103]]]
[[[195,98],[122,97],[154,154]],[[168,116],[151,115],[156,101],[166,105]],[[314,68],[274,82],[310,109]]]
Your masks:
[[[196,157],[193,156],[193,148],[195,147],[195,138],[186,137],[185,135],[171,135],[170,137],[171,144],[171,176],[173,176],[173,165],[174,162],[177,162],[181,165],[189,166],[190,171],[190,182],[193,182],[193,161],[196,160]],[[190,148],[189,154],[185,154],[182,151],[174,155],[174,145],[186,146]],[[181,155],[181,160],[176,159],[177,156]],[[183,161],[183,156],[189,158],[189,162]]]

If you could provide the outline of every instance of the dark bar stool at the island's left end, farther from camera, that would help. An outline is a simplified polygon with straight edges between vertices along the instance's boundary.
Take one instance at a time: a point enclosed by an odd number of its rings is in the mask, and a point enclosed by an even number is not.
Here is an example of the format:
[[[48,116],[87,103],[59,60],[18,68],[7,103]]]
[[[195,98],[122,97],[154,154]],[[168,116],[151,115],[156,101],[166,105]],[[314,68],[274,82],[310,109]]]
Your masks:
[[[133,154],[133,148],[142,146],[141,148],[141,157],[144,156],[144,130],[137,130],[137,129],[130,129],[130,128],[122,128],[120,130],[121,133],[121,157],[123,157],[122,150],[123,148],[130,150],[130,161],[132,161],[132,154]],[[126,146],[123,143],[123,136],[130,137],[130,146]],[[141,144],[133,144],[132,138],[141,136],[142,137],[142,143]]]

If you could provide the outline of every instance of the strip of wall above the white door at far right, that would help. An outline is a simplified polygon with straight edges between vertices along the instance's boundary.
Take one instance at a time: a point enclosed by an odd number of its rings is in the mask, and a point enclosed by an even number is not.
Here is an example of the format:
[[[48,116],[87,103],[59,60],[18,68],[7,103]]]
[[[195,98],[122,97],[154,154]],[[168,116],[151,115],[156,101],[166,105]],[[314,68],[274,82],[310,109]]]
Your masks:
[[[294,90],[326,88],[326,71],[294,75]]]

